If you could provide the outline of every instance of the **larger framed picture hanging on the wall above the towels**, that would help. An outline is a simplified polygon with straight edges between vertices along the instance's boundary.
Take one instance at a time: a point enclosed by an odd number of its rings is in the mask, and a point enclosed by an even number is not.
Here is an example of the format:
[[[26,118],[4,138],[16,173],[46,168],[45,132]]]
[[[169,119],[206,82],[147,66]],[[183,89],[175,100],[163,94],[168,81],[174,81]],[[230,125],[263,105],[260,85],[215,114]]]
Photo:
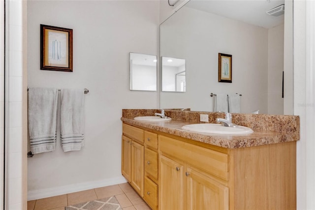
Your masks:
[[[72,29],[40,25],[40,69],[73,71]]]

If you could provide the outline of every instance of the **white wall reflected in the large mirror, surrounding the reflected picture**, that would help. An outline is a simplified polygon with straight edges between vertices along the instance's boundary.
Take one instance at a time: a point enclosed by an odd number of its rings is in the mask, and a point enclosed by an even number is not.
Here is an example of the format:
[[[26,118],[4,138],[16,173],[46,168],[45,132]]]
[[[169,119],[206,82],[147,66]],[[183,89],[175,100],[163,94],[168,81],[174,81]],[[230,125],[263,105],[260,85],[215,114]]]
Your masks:
[[[239,93],[242,113],[268,112],[267,29],[184,6],[160,34],[160,56],[186,59],[187,88],[161,93],[161,108],[213,111],[210,93]],[[232,83],[218,82],[218,53],[232,55]]]

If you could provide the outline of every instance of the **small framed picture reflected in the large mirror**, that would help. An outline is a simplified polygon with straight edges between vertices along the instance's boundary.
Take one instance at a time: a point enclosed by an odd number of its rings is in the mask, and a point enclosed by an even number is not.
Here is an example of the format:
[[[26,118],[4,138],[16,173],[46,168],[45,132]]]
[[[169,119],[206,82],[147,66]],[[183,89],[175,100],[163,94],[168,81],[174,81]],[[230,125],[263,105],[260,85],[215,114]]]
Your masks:
[[[232,82],[232,55],[219,53],[219,82]]]

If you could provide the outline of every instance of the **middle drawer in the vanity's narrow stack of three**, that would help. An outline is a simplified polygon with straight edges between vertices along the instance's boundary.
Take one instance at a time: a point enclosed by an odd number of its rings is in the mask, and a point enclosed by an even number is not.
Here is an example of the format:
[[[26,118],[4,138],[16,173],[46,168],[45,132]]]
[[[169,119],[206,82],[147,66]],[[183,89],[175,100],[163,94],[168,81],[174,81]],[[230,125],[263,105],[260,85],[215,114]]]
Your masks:
[[[158,179],[158,152],[145,148],[144,150],[144,170],[155,179]]]

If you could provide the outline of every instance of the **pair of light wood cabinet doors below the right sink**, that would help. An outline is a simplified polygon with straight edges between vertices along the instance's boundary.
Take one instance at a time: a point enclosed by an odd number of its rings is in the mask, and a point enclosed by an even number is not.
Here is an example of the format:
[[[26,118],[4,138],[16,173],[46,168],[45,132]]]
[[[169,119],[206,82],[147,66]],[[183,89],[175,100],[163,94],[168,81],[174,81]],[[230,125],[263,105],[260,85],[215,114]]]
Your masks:
[[[160,156],[161,210],[228,210],[228,187],[183,161]]]

